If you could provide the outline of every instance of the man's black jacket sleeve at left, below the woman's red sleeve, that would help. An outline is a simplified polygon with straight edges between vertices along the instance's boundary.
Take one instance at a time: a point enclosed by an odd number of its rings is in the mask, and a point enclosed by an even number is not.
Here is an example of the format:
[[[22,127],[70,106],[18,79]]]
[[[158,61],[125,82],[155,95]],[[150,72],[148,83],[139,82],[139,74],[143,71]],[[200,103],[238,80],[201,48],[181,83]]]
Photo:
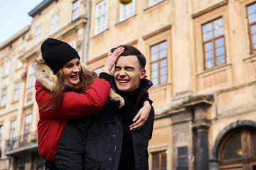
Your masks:
[[[90,128],[91,116],[73,118],[65,127],[54,155],[58,169],[84,169],[85,142]]]

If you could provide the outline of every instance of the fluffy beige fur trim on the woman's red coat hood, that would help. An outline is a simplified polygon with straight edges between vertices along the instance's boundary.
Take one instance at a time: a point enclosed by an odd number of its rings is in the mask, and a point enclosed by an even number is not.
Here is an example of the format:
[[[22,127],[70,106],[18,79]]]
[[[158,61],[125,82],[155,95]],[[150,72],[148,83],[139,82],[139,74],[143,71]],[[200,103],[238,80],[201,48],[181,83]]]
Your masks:
[[[82,69],[90,69],[84,62],[80,62]],[[43,57],[38,57],[35,62],[33,62],[33,67],[35,68],[35,77],[43,86],[48,89],[48,91],[53,92],[57,84],[58,77],[53,74],[53,71],[48,67]],[[119,101],[119,108],[124,106],[124,98],[115,93],[113,89],[110,89],[109,99],[112,101]]]

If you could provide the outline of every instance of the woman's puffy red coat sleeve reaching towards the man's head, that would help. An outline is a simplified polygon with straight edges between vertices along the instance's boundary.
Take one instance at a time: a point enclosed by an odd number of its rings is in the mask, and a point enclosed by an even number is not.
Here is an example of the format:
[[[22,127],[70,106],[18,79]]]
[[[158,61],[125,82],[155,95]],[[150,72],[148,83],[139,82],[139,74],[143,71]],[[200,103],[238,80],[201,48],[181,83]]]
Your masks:
[[[36,84],[36,101],[40,117],[47,119],[68,119],[99,112],[110,94],[110,83],[105,79],[95,79],[84,94],[74,91],[65,91],[60,105],[50,111],[44,112],[41,106],[48,102],[50,91]]]

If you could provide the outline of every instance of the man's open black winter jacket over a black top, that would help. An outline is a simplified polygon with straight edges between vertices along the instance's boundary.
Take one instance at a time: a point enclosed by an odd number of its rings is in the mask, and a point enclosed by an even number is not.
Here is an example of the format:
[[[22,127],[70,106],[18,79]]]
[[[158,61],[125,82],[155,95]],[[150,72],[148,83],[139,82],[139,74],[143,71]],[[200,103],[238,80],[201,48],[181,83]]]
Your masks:
[[[112,89],[116,88],[113,79],[110,80],[110,85],[112,86]],[[148,98],[148,95],[145,94],[145,92],[151,86],[151,81],[147,79],[141,80],[133,117],[138,113],[139,109],[142,108],[146,98]],[[122,109],[125,109],[125,105],[124,108],[119,109],[119,103],[107,100],[102,111],[92,115],[90,130],[85,126],[86,123],[73,123],[74,125],[71,126],[71,128],[68,128],[68,125],[63,137],[60,139],[58,150],[55,154],[58,168],[68,168],[69,166],[69,169],[82,169],[80,157],[81,155],[84,155],[85,157],[82,159],[84,159],[84,168],[86,170],[117,170],[122,149]],[[81,119],[78,120],[78,122],[81,122]],[[147,147],[148,142],[151,139],[153,123],[154,108],[151,106],[149,118],[142,128],[134,132],[132,131],[136,170],[149,169]],[[78,128],[75,128],[75,126]],[[83,130],[80,130],[79,127]],[[70,149],[70,145],[74,145],[74,141],[76,143],[75,147]],[[70,156],[70,158],[67,158],[67,155]]]

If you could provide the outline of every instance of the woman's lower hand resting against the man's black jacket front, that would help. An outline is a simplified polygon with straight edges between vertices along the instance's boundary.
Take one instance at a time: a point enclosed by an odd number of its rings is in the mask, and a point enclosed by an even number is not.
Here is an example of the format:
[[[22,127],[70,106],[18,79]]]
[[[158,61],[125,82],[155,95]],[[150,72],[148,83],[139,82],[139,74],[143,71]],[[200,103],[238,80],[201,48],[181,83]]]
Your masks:
[[[143,104],[143,107],[139,110],[137,115],[132,120],[133,122],[135,122],[135,121],[136,122],[129,126],[130,130],[135,131],[135,130],[139,130],[140,128],[142,128],[142,126],[146,122],[147,118],[149,117],[150,110],[151,110],[151,105],[150,105],[149,101],[145,101]],[[138,118],[139,118],[139,120],[138,120]]]

